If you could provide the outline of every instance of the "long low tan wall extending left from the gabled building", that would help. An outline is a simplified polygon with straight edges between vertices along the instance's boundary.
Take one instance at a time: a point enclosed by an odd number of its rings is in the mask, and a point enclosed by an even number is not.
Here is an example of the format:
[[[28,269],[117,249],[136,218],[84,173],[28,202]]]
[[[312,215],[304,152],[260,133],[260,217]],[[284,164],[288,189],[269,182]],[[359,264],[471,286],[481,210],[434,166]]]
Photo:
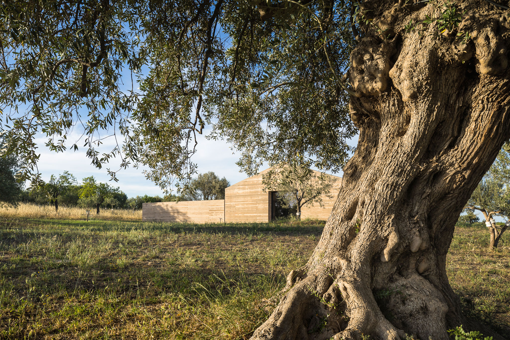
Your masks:
[[[223,199],[216,199],[209,201],[143,203],[142,221],[224,222],[225,201]]]

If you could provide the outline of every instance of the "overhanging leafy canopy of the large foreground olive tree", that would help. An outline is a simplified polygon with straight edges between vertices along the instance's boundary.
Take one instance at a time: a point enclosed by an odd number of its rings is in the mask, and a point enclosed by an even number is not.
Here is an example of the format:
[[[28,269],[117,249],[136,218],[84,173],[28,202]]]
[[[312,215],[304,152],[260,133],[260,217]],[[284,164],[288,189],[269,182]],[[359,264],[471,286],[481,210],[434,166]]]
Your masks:
[[[85,147],[97,167],[117,157],[181,188],[209,127],[248,174],[282,160],[338,171],[356,129],[330,65],[347,67],[350,7],[281,6],[262,20],[255,4],[223,0],[2,3],[2,152],[37,181],[43,133],[57,152]],[[75,125],[80,141],[67,139]],[[115,147],[99,152],[109,135]]]

